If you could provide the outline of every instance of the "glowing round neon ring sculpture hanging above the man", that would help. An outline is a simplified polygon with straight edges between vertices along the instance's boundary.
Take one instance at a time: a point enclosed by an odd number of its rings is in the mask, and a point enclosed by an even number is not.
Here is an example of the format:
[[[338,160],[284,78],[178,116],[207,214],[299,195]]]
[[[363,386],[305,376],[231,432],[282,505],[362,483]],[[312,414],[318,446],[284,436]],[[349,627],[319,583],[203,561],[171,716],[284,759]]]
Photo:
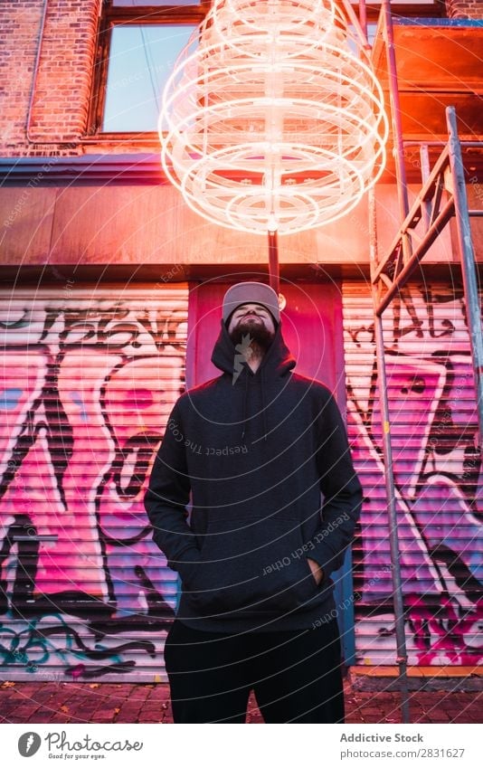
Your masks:
[[[211,222],[333,222],[384,169],[383,92],[333,0],[214,0],[166,83],[166,175]]]

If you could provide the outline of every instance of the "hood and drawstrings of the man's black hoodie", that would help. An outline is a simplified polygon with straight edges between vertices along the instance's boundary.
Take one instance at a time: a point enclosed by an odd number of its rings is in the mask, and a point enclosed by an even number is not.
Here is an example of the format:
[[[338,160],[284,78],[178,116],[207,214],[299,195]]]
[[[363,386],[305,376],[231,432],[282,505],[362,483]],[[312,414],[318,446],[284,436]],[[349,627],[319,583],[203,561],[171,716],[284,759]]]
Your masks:
[[[250,365],[246,362],[244,356],[237,351],[228,334],[228,330],[222,320],[222,329],[220,336],[216,340],[213,348],[212,363],[220,368],[224,374],[232,378],[233,386],[244,386],[243,406],[242,406],[242,434],[241,439],[245,437],[247,426],[247,414],[249,412],[249,387],[253,384],[260,385],[261,397],[261,420],[262,436],[267,441],[267,432],[269,424],[267,420],[267,387],[272,390],[273,384],[277,383],[279,378],[289,375],[292,368],[295,367],[296,360],[290,354],[289,347],[285,344],[281,334],[281,324],[277,326],[275,336],[269,349],[263,356],[258,370],[253,373]],[[243,382],[243,384],[241,384]]]

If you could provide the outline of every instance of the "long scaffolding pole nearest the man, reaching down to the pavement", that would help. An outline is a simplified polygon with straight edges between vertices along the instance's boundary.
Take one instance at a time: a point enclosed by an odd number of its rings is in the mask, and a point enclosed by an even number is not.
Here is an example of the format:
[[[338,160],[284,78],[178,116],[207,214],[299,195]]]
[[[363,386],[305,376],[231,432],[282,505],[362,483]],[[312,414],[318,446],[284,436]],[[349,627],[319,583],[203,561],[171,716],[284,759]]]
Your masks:
[[[369,226],[370,226],[370,262],[371,271],[377,264],[377,231],[375,220],[375,195],[371,189],[369,193]],[[371,280],[374,308],[379,304],[377,288],[374,280]],[[403,723],[411,723],[409,709],[409,689],[407,676],[407,652],[406,637],[404,633],[404,601],[403,580],[401,577],[401,558],[399,551],[399,538],[397,530],[397,510],[395,498],[395,484],[393,473],[393,448],[391,445],[391,422],[389,414],[389,400],[387,396],[387,373],[384,357],[384,330],[382,314],[374,311],[374,337],[377,360],[377,378],[379,381],[379,403],[381,408],[383,431],[383,455],[384,455],[384,479],[387,497],[387,515],[389,518],[389,545],[391,550],[391,574],[393,578],[393,607],[394,629],[396,634],[396,663],[399,667],[399,683],[401,688],[401,719]]]

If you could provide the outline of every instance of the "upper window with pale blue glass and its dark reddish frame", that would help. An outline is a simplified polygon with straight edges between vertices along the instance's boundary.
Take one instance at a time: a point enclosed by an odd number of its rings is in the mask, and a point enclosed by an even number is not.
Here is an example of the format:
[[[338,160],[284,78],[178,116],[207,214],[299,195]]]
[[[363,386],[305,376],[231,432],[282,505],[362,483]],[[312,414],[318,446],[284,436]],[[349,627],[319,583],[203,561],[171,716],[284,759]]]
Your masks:
[[[209,0],[105,0],[90,133],[157,130],[166,80],[210,5]]]

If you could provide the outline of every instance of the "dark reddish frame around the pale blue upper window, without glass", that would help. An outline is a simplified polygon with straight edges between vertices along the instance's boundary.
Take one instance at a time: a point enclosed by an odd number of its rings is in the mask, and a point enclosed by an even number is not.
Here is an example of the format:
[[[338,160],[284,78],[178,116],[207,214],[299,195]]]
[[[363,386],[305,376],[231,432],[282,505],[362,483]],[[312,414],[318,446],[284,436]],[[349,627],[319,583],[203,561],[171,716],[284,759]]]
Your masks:
[[[118,140],[122,137],[139,137],[139,131],[104,131],[109,51],[112,30],[116,26],[154,26],[162,24],[201,24],[211,8],[212,0],[201,0],[199,5],[112,5],[113,0],[103,0],[99,16],[98,44],[92,79],[87,136]],[[141,136],[156,137],[156,130],[142,131]]]

